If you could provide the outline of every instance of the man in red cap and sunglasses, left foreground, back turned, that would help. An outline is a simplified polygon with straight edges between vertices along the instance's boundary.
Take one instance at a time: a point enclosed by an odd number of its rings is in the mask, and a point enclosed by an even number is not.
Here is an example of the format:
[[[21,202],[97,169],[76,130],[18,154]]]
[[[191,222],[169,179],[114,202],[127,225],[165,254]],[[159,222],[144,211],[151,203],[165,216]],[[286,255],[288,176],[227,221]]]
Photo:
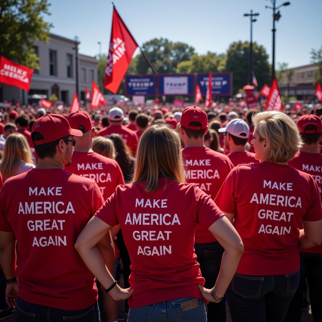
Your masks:
[[[95,181],[64,170],[82,132],[63,116],[47,114],[34,123],[31,136],[37,167],[9,178],[0,191],[6,301],[16,307],[15,321],[99,321],[94,277],[74,244],[104,200]],[[104,258],[113,256],[110,236],[97,247]]]

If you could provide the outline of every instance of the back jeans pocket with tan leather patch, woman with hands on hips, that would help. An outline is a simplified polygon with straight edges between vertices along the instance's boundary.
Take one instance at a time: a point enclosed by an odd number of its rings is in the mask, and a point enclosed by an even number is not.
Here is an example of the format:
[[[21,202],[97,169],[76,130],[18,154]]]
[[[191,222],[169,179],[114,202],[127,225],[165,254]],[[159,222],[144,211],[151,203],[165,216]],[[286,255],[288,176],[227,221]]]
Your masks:
[[[206,309],[200,298],[179,298],[172,302],[181,322],[206,321]]]

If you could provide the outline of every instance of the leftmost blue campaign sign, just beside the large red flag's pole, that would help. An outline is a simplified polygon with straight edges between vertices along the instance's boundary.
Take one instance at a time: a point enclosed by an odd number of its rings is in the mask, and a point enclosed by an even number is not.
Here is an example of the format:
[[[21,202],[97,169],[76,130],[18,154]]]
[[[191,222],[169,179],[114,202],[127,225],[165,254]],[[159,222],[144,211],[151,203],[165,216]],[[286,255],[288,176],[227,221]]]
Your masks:
[[[156,81],[154,75],[126,75],[126,95],[155,95]]]

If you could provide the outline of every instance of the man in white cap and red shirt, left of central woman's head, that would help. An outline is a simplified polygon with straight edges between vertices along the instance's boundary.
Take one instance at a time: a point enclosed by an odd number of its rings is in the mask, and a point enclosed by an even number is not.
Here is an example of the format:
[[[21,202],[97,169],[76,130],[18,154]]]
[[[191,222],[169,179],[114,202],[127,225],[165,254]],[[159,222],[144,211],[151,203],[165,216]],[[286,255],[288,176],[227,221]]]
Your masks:
[[[124,114],[123,111],[114,107],[109,110],[109,126],[99,130],[96,135],[101,137],[109,137],[111,134],[119,134],[126,145],[130,148],[132,155],[134,156],[137,150],[138,137],[137,134],[122,125]]]

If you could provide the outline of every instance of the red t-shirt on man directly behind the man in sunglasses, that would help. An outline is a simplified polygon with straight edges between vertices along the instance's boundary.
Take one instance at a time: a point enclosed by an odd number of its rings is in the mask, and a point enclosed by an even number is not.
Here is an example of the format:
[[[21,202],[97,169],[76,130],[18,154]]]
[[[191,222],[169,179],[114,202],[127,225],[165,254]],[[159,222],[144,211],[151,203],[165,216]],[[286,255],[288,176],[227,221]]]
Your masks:
[[[124,178],[118,163],[96,152],[74,151],[67,171],[95,180],[106,200],[114,193],[117,185],[124,185]]]

